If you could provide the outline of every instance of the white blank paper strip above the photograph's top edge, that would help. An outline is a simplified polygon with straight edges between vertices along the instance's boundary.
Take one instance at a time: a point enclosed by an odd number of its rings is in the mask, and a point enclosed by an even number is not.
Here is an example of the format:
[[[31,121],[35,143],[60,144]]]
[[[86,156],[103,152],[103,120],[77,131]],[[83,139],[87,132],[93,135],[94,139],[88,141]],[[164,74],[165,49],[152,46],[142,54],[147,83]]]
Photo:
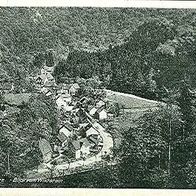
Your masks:
[[[18,7],[153,7],[196,8],[196,1],[138,0],[0,0],[0,6]]]

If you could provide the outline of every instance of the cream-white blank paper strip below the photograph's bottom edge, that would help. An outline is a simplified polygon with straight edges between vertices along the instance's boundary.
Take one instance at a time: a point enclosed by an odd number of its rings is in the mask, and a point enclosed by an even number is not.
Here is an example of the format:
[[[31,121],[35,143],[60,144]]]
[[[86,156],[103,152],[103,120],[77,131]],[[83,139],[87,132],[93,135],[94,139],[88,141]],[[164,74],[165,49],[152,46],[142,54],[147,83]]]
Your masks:
[[[2,189],[0,189],[2,193]],[[4,189],[5,196],[195,196],[194,190],[153,189],[63,189],[63,188],[13,188]]]

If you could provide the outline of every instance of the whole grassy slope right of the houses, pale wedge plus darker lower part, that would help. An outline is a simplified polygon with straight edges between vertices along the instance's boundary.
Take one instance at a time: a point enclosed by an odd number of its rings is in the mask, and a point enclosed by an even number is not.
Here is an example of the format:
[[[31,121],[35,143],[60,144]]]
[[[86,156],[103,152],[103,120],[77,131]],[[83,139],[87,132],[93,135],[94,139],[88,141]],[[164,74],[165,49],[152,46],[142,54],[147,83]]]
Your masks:
[[[143,116],[146,112],[151,112],[159,108],[164,103],[154,100],[148,100],[141,97],[137,97],[131,94],[119,93],[110,90],[106,90],[106,99],[119,103],[124,107],[120,110],[120,115],[115,117],[107,123],[107,131],[111,133],[114,139],[114,145],[116,148],[121,144],[122,133],[130,129],[130,127],[136,126],[136,120]]]

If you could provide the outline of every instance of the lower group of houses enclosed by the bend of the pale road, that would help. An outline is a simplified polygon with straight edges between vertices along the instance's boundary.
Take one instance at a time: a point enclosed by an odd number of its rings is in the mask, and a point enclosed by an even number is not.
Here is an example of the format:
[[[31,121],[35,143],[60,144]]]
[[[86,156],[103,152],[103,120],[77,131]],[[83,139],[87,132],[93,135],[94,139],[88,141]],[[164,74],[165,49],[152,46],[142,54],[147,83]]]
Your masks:
[[[67,151],[71,151],[75,159],[87,158],[89,155],[98,153],[103,147],[103,140],[99,131],[90,123],[80,124],[78,129],[67,124],[63,125],[59,129],[57,138],[61,145],[54,145],[54,152],[66,155],[70,153]]]

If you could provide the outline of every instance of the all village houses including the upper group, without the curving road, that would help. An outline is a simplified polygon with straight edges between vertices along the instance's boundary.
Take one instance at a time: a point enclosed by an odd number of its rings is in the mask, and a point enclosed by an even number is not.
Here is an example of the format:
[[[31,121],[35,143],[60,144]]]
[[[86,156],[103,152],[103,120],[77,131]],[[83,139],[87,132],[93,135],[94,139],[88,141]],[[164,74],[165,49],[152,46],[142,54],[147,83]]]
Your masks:
[[[53,71],[53,67],[44,66],[35,78],[37,90],[52,96],[59,113],[64,113],[56,141],[49,144],[45,139],[40,140],[44,161],[53,160],[54,155],[71,154],[73,159],[78,160],[97,154],[103,147],[100,129],[104,128],[100,122],[108,118],[106,102],[78,96],[80,85],[74,81],[57,85]]]

